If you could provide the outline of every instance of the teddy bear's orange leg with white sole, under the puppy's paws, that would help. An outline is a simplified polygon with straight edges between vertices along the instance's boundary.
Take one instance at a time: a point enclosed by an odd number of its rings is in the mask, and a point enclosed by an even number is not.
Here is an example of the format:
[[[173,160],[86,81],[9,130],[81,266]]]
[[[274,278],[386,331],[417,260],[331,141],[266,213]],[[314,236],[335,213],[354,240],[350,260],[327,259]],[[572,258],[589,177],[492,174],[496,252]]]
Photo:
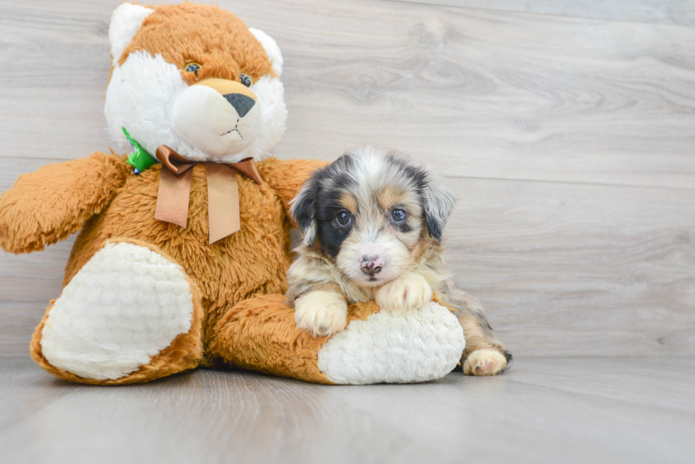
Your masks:
[[[239,302],[214,326],[209,349],[229,366],[316,383],[414,383],[440,378],[465,346],[456,317],[436,302],[409,312],[350,305],[347,327],[313,336],[296,327],[284,295]]]

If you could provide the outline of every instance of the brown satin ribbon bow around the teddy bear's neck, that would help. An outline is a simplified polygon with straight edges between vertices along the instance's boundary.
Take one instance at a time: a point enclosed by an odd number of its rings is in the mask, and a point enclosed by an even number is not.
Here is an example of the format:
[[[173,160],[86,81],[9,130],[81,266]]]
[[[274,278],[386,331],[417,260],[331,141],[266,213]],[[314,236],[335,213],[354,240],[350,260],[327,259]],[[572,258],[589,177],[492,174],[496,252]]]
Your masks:
[[[167,145],[157,147],[157,159],[162,162],[160,190],[157,193],[155,219],[186,227],[188,205],[191,197],[191,179],[196,162],[184,159]],[[257,184],[262,184],[253,158],[238,163],[203,163],[208,179],[208,243],[237,232],[241,228],[239,215],[239,186],[234,170]]]

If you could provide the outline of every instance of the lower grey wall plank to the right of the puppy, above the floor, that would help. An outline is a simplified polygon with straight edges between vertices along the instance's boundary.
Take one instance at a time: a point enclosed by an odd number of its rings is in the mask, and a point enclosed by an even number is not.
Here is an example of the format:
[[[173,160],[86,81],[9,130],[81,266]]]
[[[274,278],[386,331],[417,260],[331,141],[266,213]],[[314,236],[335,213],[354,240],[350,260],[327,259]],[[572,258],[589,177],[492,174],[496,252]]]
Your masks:
[[[450,265],[512,351],[695,352],[691,191],[477,179],[454,188]]]

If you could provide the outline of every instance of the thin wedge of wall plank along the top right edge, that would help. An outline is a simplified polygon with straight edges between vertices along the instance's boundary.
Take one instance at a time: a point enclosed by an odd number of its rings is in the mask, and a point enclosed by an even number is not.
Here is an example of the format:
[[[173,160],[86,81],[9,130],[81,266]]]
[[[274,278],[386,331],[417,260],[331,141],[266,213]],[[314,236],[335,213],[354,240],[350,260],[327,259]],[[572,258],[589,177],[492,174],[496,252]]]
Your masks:
[[[459,6],[611,21],[695,26],[692,0],[394,0],[414,4]]]

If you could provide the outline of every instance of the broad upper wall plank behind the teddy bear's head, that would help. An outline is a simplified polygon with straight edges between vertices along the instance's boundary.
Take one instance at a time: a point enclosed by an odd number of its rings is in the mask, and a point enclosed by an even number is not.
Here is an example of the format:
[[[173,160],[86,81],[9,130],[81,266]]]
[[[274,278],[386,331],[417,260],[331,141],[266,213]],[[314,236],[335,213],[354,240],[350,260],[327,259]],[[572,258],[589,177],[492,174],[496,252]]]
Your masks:
[[[0,78],[0,154],[112,145],[101,96],[117,3],[77,18],[5,4],[0,56],[35,71]],[[282,157],[375,142],[462,176],[694,188],[695,30],[389,1],[221,6],[284,50]]]

